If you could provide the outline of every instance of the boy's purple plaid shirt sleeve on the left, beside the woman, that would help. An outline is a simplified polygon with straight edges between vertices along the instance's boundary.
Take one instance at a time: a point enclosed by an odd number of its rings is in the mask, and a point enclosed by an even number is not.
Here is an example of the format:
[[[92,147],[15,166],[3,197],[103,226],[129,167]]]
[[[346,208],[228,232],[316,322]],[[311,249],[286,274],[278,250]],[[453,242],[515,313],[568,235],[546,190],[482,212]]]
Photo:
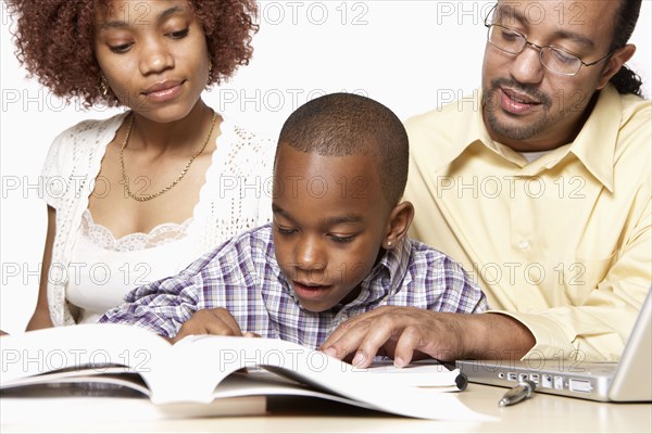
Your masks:
[[[236,286],[256,284],[250,240],[255,234],[255,230],[246,232],[197,259],[179,275],[135,289],[99,322],[129,323],[174,337],[200,309],[224,307],[230,311],[234,306],[225,293]]]

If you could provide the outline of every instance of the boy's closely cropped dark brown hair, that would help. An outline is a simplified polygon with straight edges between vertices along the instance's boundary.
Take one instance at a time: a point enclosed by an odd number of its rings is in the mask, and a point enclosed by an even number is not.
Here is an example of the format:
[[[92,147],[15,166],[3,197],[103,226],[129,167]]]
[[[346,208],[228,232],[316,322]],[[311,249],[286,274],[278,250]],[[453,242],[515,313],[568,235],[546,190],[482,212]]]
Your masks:
[[[285,122],[278,144],[324,156],[369,154],[391,205],[405,190],[408,133],[391,110],[371,98],[330,93],[306,102]]]

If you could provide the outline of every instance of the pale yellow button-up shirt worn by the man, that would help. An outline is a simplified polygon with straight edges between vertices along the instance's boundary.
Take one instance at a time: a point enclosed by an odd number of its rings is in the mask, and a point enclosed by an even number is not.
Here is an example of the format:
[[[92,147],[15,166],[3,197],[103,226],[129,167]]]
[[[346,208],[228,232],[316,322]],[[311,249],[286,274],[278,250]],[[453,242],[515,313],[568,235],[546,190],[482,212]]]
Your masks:
[[[491,140],[480,101],[406,122],[412,237],[531,331],[525,358],[619,359],[652,282],[651,102],[607,86],[572,143],[528,163]]]

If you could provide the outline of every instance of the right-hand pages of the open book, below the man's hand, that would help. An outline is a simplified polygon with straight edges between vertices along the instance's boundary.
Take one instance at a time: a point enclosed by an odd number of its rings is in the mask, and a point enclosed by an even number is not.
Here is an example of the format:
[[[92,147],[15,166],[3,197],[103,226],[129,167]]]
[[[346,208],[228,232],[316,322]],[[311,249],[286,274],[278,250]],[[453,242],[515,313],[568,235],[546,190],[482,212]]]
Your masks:
[[[441,375],[434,382],[437,387],[417,387],[415,381],[402,383],[398,376],[410,375],[411,369],[400,373],[379,373],[368,369],[358,369],[349,363],[329,357],[322,352],[290,342],[272,339],[229,337],[198,335],[188,336],[174,346],[173,358],[184,371],[176,371],[176,379],[167,383],[161,394],[152,396],[158,403],[172,403],[175,399],[201,399],[210,401],[216,396],[239,396],[242,394],[279,394],[316,396],[354,404],[359,407],[425,419],[479,420],[477,414],[464,406],[456,394],[439,393],[439,385],[447,382],[455,386],[456,372],[451,373],[440,366],[417,367],[423,375]],[[183,356],[181,356],[183,354]],[[277,375],[301,383],[261,381],[260,384],[234,386],[233,376],[225,378],[240,368],[262,367]],[[389,368],[386,368],[389,370]],[[394,368],[394,370],[398,370]],[[371,372],[369,372],[371,371]],[[456,371],[456,370],[455,370]],[[170,371],[175,375],[174,371]],[[268,379],[267,379],[268,380]],[[192,385],[183,390],[174,384],[185,382]],[[256,390],[256,387],[259,387]],[[161,391],[156,391],[161,392]]]

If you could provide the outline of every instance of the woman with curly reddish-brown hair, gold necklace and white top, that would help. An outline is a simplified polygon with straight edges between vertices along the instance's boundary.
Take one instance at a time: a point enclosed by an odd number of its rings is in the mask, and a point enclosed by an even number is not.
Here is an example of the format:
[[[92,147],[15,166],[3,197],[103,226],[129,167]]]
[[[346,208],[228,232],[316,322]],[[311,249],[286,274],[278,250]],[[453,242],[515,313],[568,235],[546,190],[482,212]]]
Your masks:
[[[42,85],[128,108],[52,143],[27,330],[95,322],[135,286],[269,219],[274,144],[201,99],[251,58],[253,1],[8,2],[18,59]]]

